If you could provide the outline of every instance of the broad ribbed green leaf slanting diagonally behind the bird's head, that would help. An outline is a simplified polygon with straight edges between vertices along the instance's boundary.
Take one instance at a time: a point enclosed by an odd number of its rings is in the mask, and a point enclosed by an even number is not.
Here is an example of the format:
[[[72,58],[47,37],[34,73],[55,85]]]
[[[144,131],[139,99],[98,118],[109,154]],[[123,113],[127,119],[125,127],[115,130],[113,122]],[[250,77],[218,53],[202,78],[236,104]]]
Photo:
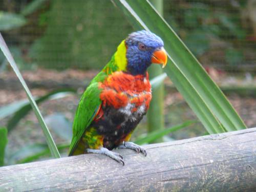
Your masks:
[[[148,1],[112,0],[112,2],[124,12],[135,29],[150,30],[163,39],[169,57],[164,71],[208,133],[246,128],[242,119],[207,75],[199,61]]]

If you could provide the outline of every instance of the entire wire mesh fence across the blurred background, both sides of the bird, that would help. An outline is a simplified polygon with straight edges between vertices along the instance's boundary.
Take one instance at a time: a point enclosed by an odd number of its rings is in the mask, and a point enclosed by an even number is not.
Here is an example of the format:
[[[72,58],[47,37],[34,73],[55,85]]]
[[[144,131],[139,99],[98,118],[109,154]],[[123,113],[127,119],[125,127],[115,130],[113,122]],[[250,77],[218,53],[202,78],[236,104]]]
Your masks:
[[[133,31],[111,1],[3,0],[0,6],[2,15],[25,20],[3,31],[7,24],[0,17],[1,31],[25,69],[100,69]],[[255,0],[164,1],[165,19],[201,63],[229,71],[256,70],[255,13]]]

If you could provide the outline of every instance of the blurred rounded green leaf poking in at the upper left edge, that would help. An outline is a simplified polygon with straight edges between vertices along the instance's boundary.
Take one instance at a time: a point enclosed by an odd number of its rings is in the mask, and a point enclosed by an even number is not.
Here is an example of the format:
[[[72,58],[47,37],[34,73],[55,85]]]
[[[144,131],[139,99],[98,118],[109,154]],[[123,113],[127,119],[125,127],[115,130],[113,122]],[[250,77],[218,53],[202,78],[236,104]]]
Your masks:
[[[22,27],[27,23],[25,17],[0,11],[0,31]]]

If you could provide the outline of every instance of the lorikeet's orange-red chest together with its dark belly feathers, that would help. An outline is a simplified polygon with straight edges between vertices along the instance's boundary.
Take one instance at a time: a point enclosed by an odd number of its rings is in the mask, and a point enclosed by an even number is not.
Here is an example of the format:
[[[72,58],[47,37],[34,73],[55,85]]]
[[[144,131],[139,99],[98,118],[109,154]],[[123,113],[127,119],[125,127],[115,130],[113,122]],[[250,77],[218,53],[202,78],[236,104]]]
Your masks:
[[[102,90],[101,112],[93,126],[104,135],[105,147],[111,149],[114,143],[124,140],[146,114],[152,97],[151,84],[148,74],[133,76],[115,72],[99,83],[99,88]]]

